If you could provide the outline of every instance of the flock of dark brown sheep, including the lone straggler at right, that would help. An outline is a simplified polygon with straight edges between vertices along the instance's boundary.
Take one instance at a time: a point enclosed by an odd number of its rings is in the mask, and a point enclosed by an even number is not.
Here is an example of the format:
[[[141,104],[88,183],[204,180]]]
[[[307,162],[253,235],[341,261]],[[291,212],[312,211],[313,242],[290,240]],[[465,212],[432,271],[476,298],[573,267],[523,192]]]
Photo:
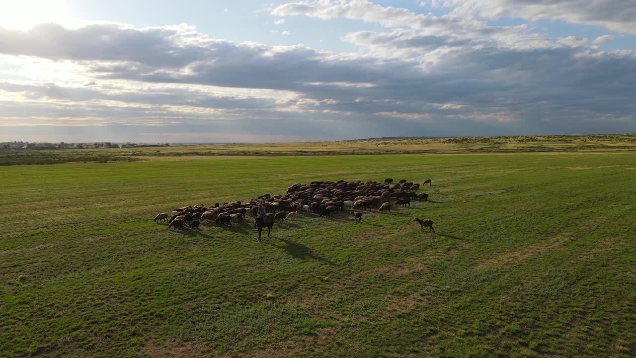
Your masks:
[[[219,226],[232,227],[232,223],[240,224],[247,215],[256,217],[259,212],[265,211],[273,221],[289,220],[301,213],[315,213],[321,217],[331,217],[331,214],[340,210],[349,210],[355,220],[360,222],[363,213],[354,210],[368,210],[378,208],[380,213],[391,213],[391,200],[395,199],[396,206],[410,206],[411,199],[427,201],[429,194],[417,193],[420,184],[400,180],[392,185],[393,179],[387,178],[384,183],[378,182],[311,182],[308,184],[296,183],[287,188],[286,194],[264,194],[247,203],[235,201],[232,203],[214,204],[207,207],[203,204],[196,206],[183,206],[172,210],[170,214],[160,213],[156,215],[155,222],[167,221],[168,227],[183,229],[188,224],[191,228],[197,228],[201,222],[216,222]],[[423,185],[432,185],[431,180],[425,180]],[[263,210],[264,208],[264,210]],[[259,210],[260,209],[260,210]],[[258,221],[258,220],[257,220]],[[422,230],[429,227],[433,229],[433,222],[429,219],[415,218]],[[255,226],[256,227],[256,224]],[[260,232],[259,232],[260,234]],[[259,235],[260,236],[260,235]]]

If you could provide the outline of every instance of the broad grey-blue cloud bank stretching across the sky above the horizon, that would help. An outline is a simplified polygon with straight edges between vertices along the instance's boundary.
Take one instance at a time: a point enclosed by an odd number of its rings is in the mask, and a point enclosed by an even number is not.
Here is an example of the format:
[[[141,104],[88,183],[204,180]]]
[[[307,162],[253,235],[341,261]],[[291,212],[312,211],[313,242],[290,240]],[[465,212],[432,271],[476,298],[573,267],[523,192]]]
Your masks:
[[[68,62],[79,78],[1,82],[0,125],[15,134],[29,123],[43,131],[92,123],[144,138],[148,127],[175,138],[636,131],[632,52],[600,51],[607,37],[479,33],[351,32],[343,39],[362,50],[336,54],[234,43],[188,25],[0,28],[0,54]]]

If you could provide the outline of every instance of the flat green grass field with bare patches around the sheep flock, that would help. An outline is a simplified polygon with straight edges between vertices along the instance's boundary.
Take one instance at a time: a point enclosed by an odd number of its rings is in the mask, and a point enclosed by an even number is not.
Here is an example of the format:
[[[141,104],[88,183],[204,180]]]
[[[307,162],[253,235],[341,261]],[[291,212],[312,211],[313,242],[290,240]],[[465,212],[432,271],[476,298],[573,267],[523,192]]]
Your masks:
[[[262,243],[153,222],[387,176],[441,192]],[[636,355],[634,152],[4,166],[0,184],[1,357]]]

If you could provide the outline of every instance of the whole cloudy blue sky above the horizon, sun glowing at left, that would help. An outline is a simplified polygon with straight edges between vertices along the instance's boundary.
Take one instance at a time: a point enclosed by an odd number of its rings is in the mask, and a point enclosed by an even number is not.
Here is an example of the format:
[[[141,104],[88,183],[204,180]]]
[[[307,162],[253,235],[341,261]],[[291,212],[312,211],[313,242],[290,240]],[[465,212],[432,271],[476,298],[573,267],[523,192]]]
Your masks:
[[[0,8],[0,141],[636,132],[636,0]]]

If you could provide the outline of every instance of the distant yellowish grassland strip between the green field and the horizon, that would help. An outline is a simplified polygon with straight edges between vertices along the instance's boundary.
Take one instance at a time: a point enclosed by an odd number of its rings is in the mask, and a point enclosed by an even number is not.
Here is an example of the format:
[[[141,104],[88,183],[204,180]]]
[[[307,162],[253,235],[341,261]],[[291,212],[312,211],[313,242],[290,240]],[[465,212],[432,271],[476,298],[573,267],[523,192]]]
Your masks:
[[[386,138],[307,143],[229,143],[64,150],[0,150],[0,166],[64,162],[174,160],[188,157],[282,157],[306,155],[485,154],[550,152],[636,152],[636,134]]]

